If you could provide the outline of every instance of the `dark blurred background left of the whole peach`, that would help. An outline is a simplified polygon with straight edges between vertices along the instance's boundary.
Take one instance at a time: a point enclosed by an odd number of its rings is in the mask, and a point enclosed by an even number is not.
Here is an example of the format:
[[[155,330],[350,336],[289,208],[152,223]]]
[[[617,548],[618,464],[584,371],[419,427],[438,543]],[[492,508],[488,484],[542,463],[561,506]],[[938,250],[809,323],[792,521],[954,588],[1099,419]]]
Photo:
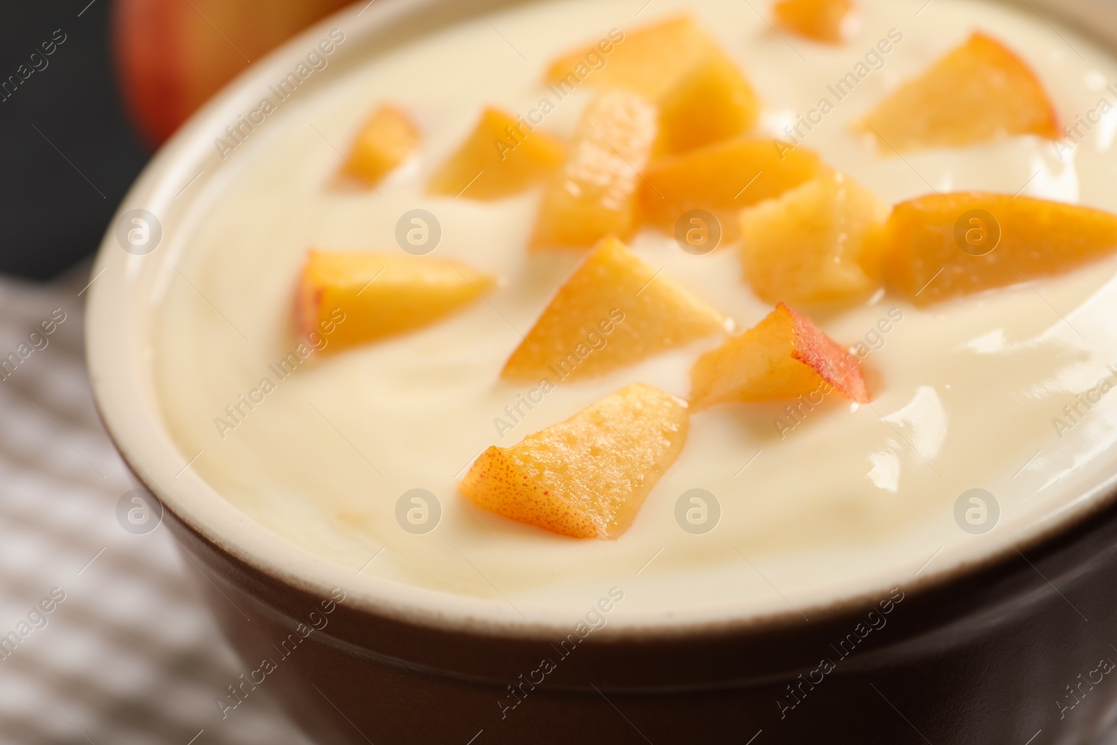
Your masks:
[[[0,274],[49,279],[92,255],[150,155],[117,90],[109,11],[111,0],[0,7],[0,80],[66,35],[0,102]]]

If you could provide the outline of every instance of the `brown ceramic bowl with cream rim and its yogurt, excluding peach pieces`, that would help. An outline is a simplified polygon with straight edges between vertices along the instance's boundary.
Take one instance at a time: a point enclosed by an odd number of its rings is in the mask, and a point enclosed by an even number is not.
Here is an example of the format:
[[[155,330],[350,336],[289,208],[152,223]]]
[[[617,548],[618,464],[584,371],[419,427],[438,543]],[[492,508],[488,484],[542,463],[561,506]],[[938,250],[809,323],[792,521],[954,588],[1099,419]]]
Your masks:
[[[1110,10],[858,10],[828,46],[727,0],[356,3],[156,155],[94,268],[89,370],[241,656],[217,720],[261,688],[324,743],[1087,743],[1114,724],[1117,258],[825,314],[865,350],[871,403],[695,413],[614,541],[458,491],[489,446],[633,380],[686,397],[712,346],[592,380],[498,378],[581,256],[525,250],[537,189],[481,202],[424,185],[485,106],[572,136],[590,86],[544,83],[570,49],[688,12],[763,102],[754,135],[791,130],[889,203],[984,190],[1117,211]],[[1027,58],[1062,139],[887,156],[852,131],[975,30]],[[421,144],[375,189],[341,188],[381,102],[412,114]],[[307,249],[403,252],[416,216],[428,252],[499,278],[485,302],[337,354],[328,333],[292,333]],[[734,250],[688,254],[650,229],[629,245],[738,327],[771,311]]]

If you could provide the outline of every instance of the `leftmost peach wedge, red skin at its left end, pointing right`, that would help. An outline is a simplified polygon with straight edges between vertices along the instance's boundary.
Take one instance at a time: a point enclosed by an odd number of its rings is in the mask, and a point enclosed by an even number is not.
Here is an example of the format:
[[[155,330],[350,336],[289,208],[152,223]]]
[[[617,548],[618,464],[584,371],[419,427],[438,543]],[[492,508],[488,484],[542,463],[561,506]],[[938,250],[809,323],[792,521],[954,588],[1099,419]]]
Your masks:
[[[462,264],[375,251],[307,251],[295,299],[299,334],[333,328],[330,351],[430,325],[474,303],[493,277]]]

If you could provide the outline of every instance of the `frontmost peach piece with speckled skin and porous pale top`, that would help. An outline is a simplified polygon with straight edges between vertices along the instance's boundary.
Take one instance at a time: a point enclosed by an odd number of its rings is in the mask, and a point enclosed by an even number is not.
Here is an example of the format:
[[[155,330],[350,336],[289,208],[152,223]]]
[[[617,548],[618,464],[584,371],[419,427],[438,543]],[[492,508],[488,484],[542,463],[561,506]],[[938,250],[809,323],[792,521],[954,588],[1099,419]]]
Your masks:
[[[510,448],[490,447],[459,488],[479,507],[575,538],[615,538],[687,439],[687,402],[633,383]]]

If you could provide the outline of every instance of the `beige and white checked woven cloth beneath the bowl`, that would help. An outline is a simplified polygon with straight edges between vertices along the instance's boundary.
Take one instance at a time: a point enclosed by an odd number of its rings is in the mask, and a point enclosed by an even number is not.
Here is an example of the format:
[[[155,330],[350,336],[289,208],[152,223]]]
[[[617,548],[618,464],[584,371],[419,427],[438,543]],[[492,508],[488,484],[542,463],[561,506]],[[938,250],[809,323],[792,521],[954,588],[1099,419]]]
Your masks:
[[[137,485],[94,411],[86,281],[0,278],[0,743],[307,745],[266,695],[221,718],[242,667],[199,570],[117,519]]]

